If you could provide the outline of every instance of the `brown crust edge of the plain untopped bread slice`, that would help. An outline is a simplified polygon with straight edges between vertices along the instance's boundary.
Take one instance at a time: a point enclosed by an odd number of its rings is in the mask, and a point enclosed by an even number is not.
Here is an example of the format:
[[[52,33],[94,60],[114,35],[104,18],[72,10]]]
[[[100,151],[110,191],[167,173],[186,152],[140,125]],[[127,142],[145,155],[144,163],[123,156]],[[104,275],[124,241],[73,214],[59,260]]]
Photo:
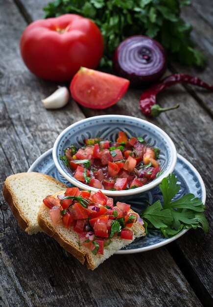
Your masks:
[[[11,179],[16,179],[18,177],[23,177],[23,176],[28,176],[29,178],[31,178],[32,176],[35,177],[34,179],[36,179],[36,177],[44,177],[45,179],[52,181],[53,183],[60,185],[62,189],[66,189],[67,185],[48,176],[45,174],[40,174],[40,173],[35,173],[35,172],[30,172],[30,173],[18,173],[15,175],[11,175],[9,177],[6,178],[5,182],[4,182],[4,186],[3,186],[3,197],[5,199],[5,201],[8,203],[8,205],[11,208],[11,211],[14,215],[14,217],[16,218],[16,220],[18,221],[19,226],[26,231],[27,228],[29,227],[30,224],[30,220],[27,219],[23,212],[22,209],[20,208],[19,202],[17,200],[16,195],[14,194],[12,185],[11,185]]]

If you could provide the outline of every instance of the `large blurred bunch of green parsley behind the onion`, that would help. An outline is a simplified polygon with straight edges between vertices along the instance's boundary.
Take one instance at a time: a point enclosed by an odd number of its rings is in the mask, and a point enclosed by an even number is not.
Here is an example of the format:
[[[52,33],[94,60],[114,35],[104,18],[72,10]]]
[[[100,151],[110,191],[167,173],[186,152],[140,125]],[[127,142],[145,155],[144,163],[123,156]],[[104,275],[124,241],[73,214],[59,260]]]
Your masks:
[[[101,66],[112,66],[115,49],[125,38],[147,35],[158,40],[171,59],[203,66],[205,56],[193,48],[192,27],[181,17],[190,0],[55,0],[45,17],[74,13],[89,18],[100,28],[104,43]]]

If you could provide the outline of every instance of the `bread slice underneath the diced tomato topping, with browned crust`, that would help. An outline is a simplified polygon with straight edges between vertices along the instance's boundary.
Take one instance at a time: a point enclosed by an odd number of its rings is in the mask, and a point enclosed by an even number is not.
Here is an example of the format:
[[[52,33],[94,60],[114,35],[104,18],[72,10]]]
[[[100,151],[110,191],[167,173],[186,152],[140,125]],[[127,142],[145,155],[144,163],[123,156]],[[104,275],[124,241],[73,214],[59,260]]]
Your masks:
[[[64,194],[61,191],[53,195],[55,198],[58,194]],[[131,209],[130,209],[131,210]],[[79,234],[71,228],[66,229],[63,224],[53,225],[49,209],[42,205],[38,214],[38,223],[44,232],[53,237],[67,252],[75,256],[82,264],[86,263],[88,269],[94,270],[104,260],[115,254],[121,248],[130,244],[135,238],[145,235],[145,230],[138,222],[134,223],[131,230],[133,230],[133,240],[125,240],[120,237],[113,237],[112,243],[104,248],[104,255],[94,255],[88,248],[79,246]],[[134,212],[131,210],[131,212]]]

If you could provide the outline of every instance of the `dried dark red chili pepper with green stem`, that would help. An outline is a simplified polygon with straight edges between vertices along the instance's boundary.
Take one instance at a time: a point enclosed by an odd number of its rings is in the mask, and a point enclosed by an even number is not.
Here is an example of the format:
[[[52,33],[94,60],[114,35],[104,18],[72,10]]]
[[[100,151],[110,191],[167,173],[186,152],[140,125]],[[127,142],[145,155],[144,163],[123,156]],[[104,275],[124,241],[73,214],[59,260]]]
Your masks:
[[[169,108],[161,108],[159,104],[156,104],[157,94],[163,91],[166,87],[172,86],[177,83],[190,83],[213,91],[213,85],[209,85],[203,82],[200,78],[185,74],[174,74],[166,77],[160,83],[151,86],[145,92],[142,93],[140,99],[140,109],[142,110],[142,113],[148,116],[156,117],[161,112],[178,108],[179,104]]]

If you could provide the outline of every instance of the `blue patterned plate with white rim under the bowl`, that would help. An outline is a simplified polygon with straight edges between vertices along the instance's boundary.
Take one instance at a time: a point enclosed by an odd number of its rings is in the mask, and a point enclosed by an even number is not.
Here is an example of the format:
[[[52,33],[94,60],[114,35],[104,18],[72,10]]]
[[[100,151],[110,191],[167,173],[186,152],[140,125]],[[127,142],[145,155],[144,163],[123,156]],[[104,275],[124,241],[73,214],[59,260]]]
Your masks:
[[[48,150],[46,153],[43,153],[31,165],[28,172],[47,174],[69,186],[73,186],[56,169],[52,158],[52,149]],[[203,179],[201,178],[198,171],[189,163],[189,161],[187,161],[180,154],[178,154],[177,164],[173,173],[178,177],[178,183],[181,185],[181,189],[176,196],[176,199],[180,198],[184,194],[193,193],[196,197],[199,197],[205,204],[206,189]],[[163,197],[161,195],[160,188],[157,186],[149,190],[148,192],[144,192],[142,196],[134,200],[129,200],[128,204],[130,204],[132,208],[140,214],[141,211],[146,207],[145,201],[148,201],[150,204],[153,204],[159,199],[162,201]],[[188,230],[182,230],[177,235],[166,239],[161,234],[160,230],[152,230],[149,231],[148,235],[143,238],[136,239],[134,242],[132,242],[126,248],[118,251],[116,254],[133,254],[149,251],[176,240],[187,231]]]

